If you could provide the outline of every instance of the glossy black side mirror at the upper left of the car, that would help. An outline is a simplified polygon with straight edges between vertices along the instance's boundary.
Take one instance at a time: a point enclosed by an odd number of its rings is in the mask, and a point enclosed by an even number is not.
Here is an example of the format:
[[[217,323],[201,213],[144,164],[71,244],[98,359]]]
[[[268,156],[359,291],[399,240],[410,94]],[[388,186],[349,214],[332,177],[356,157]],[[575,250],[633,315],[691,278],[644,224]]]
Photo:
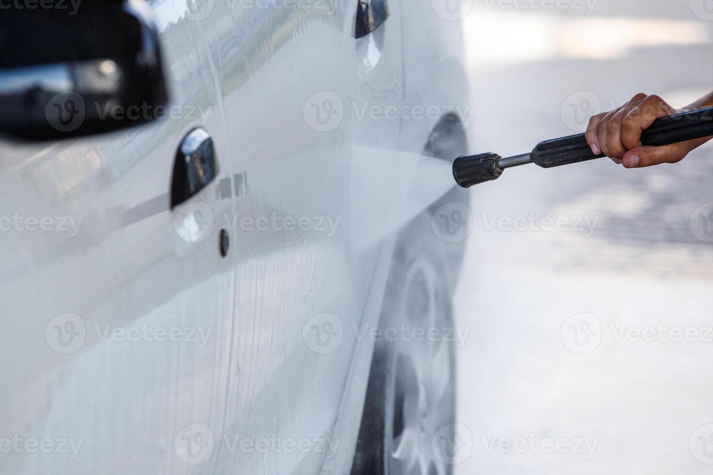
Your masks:
[[[153,120],[167,102],[144,0],[0,14],[0,134],[55,140],[119,130]]]

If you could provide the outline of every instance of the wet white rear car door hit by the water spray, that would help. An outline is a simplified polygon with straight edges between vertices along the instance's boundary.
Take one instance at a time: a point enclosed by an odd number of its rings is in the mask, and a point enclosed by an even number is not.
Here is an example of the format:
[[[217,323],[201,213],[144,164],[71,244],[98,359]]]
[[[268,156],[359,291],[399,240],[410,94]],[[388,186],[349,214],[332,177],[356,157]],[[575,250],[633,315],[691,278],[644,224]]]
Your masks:
[[[335,424],[357,370],[366,384],[357,343],[379,313],[376,264],[389,264],[380,210],[359,201],[399,136],[398,117],[369,109],[399,105],[403,77],[396,2],[378,37],[356,39],[358,3],[215,2],[202,23],[240,177],[221,474],[315,474],[351,450]]]

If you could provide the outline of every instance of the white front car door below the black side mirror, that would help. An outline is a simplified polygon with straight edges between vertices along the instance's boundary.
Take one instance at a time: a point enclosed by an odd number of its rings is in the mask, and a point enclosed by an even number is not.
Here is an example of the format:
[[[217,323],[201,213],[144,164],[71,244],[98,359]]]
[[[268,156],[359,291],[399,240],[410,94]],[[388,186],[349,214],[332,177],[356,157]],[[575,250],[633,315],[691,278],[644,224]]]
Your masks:
[[[0,143],[2,473],[212,473],[199,442],[224,417],[232,162],[200,21],[177,5],[153,4],[171,102],[140,113],[158,120]],[[171,209],[177,152],[197,127],[219,171]]]

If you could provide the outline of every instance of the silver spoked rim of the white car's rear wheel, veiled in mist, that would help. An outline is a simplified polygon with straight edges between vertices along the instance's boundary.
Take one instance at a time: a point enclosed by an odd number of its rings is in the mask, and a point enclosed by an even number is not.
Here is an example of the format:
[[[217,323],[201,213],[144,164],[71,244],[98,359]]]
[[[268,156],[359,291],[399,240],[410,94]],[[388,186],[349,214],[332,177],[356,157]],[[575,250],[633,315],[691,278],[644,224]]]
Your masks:
[[[399,323],[424,333],[453,326],[448,294],[427,259],[411,264],[404,289]],[[456,415],[455,347],[438,338],[416,338],[404,335],[387,355],[392,370],[384,398],[386,474],[445,475],[450,466],[433,439]]]

